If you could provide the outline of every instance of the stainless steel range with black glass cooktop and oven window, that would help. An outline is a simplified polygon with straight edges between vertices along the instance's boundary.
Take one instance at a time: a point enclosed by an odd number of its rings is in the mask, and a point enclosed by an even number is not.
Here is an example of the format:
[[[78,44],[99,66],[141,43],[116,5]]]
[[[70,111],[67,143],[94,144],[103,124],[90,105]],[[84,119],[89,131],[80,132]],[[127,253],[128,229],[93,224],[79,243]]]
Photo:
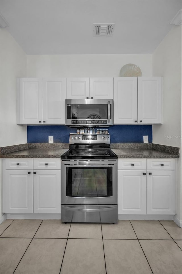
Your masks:
[[[62,222],[117,222],[117,155],[109,134],[70,134],[61,156]]]

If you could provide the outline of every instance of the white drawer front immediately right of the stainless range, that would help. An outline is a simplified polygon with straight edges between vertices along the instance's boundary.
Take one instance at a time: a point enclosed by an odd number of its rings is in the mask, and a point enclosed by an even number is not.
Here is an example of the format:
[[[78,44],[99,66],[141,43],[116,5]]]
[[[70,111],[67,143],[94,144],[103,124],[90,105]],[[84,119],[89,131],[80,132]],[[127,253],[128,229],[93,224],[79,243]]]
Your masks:
[[[118,159],[118,169],[146,169],[146,159]]]

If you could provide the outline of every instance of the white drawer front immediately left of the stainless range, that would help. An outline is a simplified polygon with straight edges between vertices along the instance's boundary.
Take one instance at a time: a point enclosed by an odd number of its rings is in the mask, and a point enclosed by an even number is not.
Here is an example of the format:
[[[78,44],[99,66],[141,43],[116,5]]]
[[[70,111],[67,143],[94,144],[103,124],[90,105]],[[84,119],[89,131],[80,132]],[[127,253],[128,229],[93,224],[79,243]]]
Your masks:
[[[34,169],[61,169],[61,158],[34,158]]]

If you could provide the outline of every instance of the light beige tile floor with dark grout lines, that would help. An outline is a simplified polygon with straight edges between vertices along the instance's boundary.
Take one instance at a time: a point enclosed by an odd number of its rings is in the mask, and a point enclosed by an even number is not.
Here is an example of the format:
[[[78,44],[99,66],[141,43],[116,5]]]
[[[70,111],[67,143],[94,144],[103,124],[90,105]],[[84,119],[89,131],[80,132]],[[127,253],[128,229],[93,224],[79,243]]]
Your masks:
[[[173,221],[0,224],[1,274],[182,274],[182,228]]]

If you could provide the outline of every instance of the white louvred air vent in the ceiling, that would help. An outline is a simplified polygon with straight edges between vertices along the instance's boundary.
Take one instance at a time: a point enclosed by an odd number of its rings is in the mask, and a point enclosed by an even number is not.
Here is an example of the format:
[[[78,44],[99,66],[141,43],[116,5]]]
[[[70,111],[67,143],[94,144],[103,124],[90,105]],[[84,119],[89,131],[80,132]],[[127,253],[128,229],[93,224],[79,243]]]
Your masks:
[[[115,23],[94,24],[94,36],[112,36]]]

